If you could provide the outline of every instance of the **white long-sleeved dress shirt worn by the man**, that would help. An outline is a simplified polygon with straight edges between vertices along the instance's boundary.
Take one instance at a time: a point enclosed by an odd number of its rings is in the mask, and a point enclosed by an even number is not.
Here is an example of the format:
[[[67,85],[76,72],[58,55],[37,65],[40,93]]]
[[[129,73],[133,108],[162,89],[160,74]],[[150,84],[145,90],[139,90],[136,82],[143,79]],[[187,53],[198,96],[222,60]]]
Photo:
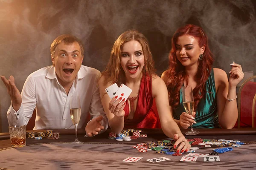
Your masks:
[[[91,118],[103,116],[103,126],[108,128],[108,119],[103,110],[98,79],[100,72],[81,65],[68,95],[58,82],[53,66],[41,68],[30,74],[21,92],[22,105],[16,112],[11,107],[7,111],[9,125],[27,125],[36,109],[34,130],[75,128],[70,118],[70,98],[79,96],[81,118],[78,128],[85,124],[90,113]]]

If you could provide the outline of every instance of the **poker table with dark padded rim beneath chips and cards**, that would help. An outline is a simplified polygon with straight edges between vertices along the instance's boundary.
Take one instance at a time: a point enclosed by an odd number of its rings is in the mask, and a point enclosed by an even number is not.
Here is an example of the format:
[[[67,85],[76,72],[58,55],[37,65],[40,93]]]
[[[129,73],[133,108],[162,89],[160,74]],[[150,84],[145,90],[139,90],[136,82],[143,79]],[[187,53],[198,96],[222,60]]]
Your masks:
[[[84,137],[85,131],[78,130],[79,141],[82,145],[73,145],[75,130],[53,130],[60,133],[60,139],[53,140],[44,137],[41,140],[26,138],[26,146],[12,148],[9,133],[0,133],[0,170],[114,170],[114,169],[193,169],[193,170],[254,170],[256,169],[256,128],[239,129],[195,129],[200,133],[195,136],[185,136],[187,139],[231,139],[244,142],[241,147],[233,147],[233,151],[220,153],[220,161],[205,162],[203,157],[198,157],[195,162],[180,161],[182,156],[166,155],[148,151],[138,152],[132,146],[151,141],[168,139],[161,129],[142,129],[145,138],[132,139],[131,141],[116,141],[108,139],[108,129],[105,133]],[[44,130],[31,130],[38,132]],[[182,130],[184,134],[188,130]],[[215,148],[201,145],[196,153],[209,153]],[[137,162],[122,162],[128,157],[143,157]],[[212,155],[209,155],[212,156]],[[146,159],[166,157],[171,160],[149,162]]]

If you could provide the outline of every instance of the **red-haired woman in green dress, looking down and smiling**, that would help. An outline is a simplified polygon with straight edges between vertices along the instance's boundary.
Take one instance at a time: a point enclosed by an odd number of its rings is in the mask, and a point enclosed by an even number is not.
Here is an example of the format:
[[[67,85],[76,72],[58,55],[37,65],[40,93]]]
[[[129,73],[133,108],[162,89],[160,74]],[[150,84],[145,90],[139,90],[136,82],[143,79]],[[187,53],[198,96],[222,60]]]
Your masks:
[[[175,32],[169,69],[161,78],[168,89],[172,116],[184,129],[190,125],[195,128],[231,129],[236,124],[236,85],[244,77],[241,65],[231,63],[228,79],[225,71],[212,68],[212,63],[208,37],[201,27],[189,24]],[[183,85],[192,87],[195,102],[192,116],[183,107],[180,90]]]

